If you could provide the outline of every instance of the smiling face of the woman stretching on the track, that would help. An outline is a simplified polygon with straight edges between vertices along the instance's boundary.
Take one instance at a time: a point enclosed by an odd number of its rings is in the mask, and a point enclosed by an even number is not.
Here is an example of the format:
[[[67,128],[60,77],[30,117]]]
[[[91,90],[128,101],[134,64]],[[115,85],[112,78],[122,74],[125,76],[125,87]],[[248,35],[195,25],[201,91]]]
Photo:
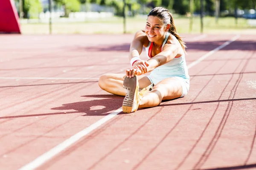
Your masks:
[[[155,42],[159,40],[165,35],[165,32],[166,26],[164,26],[163,22],[158,17],[148,16],[145,33],[149,41]]]

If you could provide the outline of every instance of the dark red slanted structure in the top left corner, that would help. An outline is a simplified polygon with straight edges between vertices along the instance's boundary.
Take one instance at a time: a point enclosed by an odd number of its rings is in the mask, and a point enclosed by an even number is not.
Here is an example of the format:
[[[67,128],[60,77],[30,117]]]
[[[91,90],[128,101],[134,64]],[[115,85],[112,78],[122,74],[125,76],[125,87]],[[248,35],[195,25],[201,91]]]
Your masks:
[[[0,0],[0,33],[20,34],[20,22],[14,0]]]

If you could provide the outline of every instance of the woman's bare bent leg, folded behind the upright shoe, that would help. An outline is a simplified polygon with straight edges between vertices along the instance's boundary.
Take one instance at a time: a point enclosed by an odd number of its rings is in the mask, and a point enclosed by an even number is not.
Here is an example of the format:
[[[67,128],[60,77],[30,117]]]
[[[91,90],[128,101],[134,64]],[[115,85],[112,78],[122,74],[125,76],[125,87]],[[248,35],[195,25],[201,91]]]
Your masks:
[[[104,74],[99,78],[99,87],[111,94],[119,96],[125,96],[125,90],[123,88],[125,74]],[[151,84],[148,77],[140,75],[138,76],[140,88],[145,88]]]

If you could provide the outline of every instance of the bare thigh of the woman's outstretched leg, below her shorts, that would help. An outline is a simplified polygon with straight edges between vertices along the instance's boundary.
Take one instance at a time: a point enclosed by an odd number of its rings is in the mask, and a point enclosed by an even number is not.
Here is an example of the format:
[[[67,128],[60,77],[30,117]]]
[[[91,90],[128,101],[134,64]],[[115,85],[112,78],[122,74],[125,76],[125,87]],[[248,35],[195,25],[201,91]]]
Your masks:
[[[174,77],[163,79],[154,85],[153,90],[159,91],[163,100],[179,98],[183,92],[180,80]]]

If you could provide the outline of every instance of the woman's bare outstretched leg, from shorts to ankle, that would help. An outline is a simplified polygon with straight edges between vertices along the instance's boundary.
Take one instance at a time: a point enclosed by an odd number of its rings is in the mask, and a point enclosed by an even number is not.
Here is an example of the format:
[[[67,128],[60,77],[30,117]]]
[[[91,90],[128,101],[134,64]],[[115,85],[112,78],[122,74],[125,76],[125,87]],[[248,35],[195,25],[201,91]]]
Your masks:
[[[182,95],[182,85],[176,78],[164,79],[154,85],[152,91],[146,93],[140,100],[139,108],[149,108],[160,105],[162,100],[179,98]]]

